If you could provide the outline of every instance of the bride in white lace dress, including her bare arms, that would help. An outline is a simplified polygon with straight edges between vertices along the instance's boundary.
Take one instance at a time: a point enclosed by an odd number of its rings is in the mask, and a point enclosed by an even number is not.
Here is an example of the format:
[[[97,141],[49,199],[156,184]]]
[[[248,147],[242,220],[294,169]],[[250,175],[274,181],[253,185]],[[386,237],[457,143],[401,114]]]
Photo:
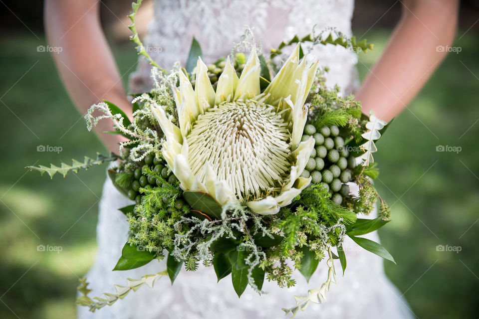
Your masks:
[[[131,105],[122,87],[121,77],[103,35],[97,0],[47,0],[46,32],[50,45],[61,46],[54,58],[63,82],[80,112],[101,99],[120,106],[131,114]],[[229,53],[228,48],[240,40],[244,26],[253,28],[262,47],[277,45],[295,34],[335,27],[351,36],[353,0],[155,0],[155,19],[149,24],[145,39],[152,57],[169,69],[180,60],[185,64],[193,35],[203,47],[204,60],[212,63]],[[381,59],[359,86],[356,75],[357,57],[342,47],[322,46],[312,52],[320,64],[330,71],[327,84],[338,84],[342,94],[355,93],[364,113],[374,110],[386,121],[396,116],[414,98],[444,52],[439,45],[451,44],[457,22],[457,0],[403,0],[403,15],[396,26]],[[374,25],[374,24],[373,24]],[[405,50],[407,48],[407,50]],[[130,78],[129,91],[150,89],[150,66],[140,58]],[[111,123],[100,123],[97,132],[110,131]],[[115,135],[100,134],[112,151],[120,141]],[[98,254],[87,274],[92,294],[112,292],[114,284],[126,278],[139,278],[166,268],[165,261],[151,262],[129,271],[111,271],[127,240],[128,224],[117,208],[131,204],[109,179],[103,187],[97,226]],[[374,215],[374,214],[372,214]],[[370,239],[378,241],[377,234]],[[386,278],[383,261],[351,240],[345,240],[348,269],[337,275],[337,286],[328,294],[328,301],[312,305],[300,318],[413,318],[402,294]],[[398,266],[400,267],[400,266]],[[341,267],[336,265],[336,269]],[[297,285],[289,290],[266,282],[259,296],[249,287],[238,299],[231,282],[216,283],[212,269],[201,268],[192,273],[183,271],[175,285],[160,280],[153,290],[142,288],[124,300],[96,313],[87,308],[78,310],[78,318],[281,318],[281,307],[294,305],[293,295],[306,294],[318,288],[327,274],[318,268],[309,283],[296,274]]]

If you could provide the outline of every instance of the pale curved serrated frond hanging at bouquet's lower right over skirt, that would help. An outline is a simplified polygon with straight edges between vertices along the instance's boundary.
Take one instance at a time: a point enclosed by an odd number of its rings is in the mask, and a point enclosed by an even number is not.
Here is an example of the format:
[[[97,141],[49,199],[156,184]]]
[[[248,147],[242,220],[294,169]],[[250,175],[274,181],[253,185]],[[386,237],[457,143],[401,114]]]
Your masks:
[[[310,302],[315,304],[322,304],[326,301],[326,293],[329,292],[331,284],[336,284],[336,271],[334,269],[333,255],[331,253],[331,246],[328,247],[329,258],[326,264],[329,267],[328,279],[321,285],[319,289],[311,289],[308,291],[308,296],[294,296],[296,299],[296,306],[292,308],[283,308],[283,311],[287,314],[291,313],[294,316],[302,310],[304,311],[308,307]]]

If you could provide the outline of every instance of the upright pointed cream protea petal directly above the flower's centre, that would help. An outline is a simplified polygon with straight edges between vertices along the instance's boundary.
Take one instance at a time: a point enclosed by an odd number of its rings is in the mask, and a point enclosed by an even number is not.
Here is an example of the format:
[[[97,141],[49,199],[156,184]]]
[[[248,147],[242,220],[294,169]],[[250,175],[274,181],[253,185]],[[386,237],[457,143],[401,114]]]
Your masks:
[[[249,54],[246,65],[241,72],[238,87],[235,91],[235,100],[253,98],[259,95],[259,73],[260,73],[259,58],[256,54],[256,48],[253,47]]]

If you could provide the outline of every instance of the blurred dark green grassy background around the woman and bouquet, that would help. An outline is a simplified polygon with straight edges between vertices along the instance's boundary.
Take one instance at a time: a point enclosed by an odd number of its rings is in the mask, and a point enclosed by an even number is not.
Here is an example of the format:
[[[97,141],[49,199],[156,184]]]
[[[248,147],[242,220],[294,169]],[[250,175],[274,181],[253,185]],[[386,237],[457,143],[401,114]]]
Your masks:
[[[130,2],[102,3],[102,23],[126,84],[137,61],[126,27]],[[106,166],[52,180],[25,166],[106,151],[87,132],[50,53],[37,51],[46,45],[42,1],[0,0],[0,8],[0,318],[74,318],[78,278],[96,253]],[[141,32],[151,8],[146,0]],[[400,13],[400,1],[356,1],[353,32],[375,44],[359,55],[361,78]],[[386,273],[418,318],[479,317],[478,13],[477,1],[462,1],[454,43],[460,52],[448,55],[396,118],[375,156],[376,186],[393,219],[380,237],[398,264],[386,263]],[[62,151],[37,152],[41,145]],[[437,152],[439,146],[458,152]]]

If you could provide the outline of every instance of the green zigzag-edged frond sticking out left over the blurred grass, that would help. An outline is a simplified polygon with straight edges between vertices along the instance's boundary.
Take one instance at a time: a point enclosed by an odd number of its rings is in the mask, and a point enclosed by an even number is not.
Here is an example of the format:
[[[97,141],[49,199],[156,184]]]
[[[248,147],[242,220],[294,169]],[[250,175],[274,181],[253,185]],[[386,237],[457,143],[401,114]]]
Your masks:
[[[117,159],[119,159],[119,157],[114,153],[110,153],[109,157],[97,153],[96,160],[90,159],[89,157],[85,156],[83,162],[73,159],[71,165],[61,163],[60,166],[50,164],[50,167],[38,165],[26,166],[25,168],[28,168],[30,170],[38,170],[41,175],[43,175],[44,172],[47,172],[48,175],[50,175],[50,178],[53,178],[53,175],[55,175],[56,173],[60,173],[61,175],[63,175],[63,177],[65,177],[69,171],[77,173],[80,169],[88,169],[93,165],[101,165],[106,161],[114,161]]]

